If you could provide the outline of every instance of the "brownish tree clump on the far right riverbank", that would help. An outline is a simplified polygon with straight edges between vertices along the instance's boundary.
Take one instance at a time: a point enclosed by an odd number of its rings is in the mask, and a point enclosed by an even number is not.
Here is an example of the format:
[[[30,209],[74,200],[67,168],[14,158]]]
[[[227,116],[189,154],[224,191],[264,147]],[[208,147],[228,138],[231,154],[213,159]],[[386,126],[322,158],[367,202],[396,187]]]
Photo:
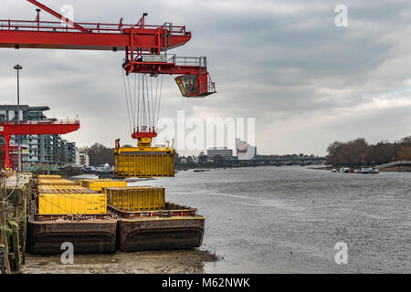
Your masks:
[[[369,144],[364,138],[353,141],[334,141],[327,148],[327,163],[334,166],[374,166],[411,161],[411,136],[400,141],[380,141]]]

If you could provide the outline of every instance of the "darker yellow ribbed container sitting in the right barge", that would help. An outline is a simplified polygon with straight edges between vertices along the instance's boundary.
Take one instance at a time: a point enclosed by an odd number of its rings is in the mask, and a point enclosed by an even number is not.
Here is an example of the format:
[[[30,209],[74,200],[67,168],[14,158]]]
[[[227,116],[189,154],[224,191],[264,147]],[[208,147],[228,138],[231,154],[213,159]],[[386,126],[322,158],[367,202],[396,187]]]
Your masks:
[[[153,186],[105,188],[108,203],[125,212],[165,209],[165,190]]]

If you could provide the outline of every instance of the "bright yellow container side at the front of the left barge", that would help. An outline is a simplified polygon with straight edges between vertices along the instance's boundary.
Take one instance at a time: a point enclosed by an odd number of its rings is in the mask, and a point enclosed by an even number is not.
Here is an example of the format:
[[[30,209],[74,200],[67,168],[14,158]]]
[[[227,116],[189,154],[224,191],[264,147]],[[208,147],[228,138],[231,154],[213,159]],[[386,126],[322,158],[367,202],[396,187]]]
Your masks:
[[[103,193],[40,193],[38,214],[107,214]]]

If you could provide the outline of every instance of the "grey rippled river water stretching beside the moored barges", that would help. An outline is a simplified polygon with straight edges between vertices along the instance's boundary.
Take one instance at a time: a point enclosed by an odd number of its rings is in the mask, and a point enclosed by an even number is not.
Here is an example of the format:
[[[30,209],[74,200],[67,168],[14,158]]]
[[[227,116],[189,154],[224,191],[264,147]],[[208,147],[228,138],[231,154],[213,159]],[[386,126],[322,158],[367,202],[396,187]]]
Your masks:
[[[411,173],[307,167],[179,172],[132,183],[205,215],[205,273],[410,273]],[[337,265],[337,243],[348,263]]]

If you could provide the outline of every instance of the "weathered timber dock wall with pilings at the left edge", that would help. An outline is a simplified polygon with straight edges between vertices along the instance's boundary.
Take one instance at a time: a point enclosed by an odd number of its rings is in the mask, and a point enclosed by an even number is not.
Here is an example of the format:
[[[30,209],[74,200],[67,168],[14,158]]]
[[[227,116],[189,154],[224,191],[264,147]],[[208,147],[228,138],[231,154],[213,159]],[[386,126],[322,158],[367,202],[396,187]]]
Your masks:
[[[19,273],[25,263],[26,218],[32,193],[31,174],[1,177],[0,273]]]

